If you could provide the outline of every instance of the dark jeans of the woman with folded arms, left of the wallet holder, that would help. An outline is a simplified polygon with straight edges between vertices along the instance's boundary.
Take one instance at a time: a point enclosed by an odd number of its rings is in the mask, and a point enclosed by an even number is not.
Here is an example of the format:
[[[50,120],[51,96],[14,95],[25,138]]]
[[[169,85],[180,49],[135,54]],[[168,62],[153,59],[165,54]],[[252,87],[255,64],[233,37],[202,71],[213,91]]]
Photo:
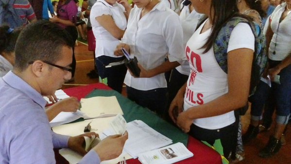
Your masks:
[[[124,64],[119,66],[113,66],[110,68],[105,68],[106,65],[113,62],[118,62],[124,60],[122,57],[110,57],[110,56],[99,56],[95,59],[95,64],[101,79],[107,78],[107,85],[115,91],[121,93],[124,77],[127,71],[127,68]]]

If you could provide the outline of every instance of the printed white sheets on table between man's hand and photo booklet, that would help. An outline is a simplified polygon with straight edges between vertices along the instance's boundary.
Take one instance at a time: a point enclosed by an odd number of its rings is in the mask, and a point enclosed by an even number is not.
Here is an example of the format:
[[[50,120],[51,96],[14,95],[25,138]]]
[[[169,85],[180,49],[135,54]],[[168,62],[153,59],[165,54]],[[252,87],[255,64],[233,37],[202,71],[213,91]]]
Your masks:
[[[124,145],[124,150],[133,158],[137,158],[139,153],[150,151],[156,148],[172,144],[172,140],[153,128],[146,125],[141,120],[127,123],[128,140]],[[105,135],[112,135],[112,129],[103,131]]]

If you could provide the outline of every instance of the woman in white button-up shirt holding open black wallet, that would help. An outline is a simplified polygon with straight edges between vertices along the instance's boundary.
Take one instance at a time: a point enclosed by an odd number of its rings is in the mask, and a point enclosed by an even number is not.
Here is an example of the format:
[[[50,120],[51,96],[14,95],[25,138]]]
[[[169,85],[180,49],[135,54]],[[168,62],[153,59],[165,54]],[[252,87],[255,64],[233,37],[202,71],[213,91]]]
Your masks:
[[[166,111],[167,82],[164,73],[180,65],[183,31],[179,16],[162,0],[134,0],[127,29],[115,55],[125,48],[138,60],[139,77],[127,71],[124,83],[127,97],[159,115]],[[168,56],[169,60],[165,61]]]

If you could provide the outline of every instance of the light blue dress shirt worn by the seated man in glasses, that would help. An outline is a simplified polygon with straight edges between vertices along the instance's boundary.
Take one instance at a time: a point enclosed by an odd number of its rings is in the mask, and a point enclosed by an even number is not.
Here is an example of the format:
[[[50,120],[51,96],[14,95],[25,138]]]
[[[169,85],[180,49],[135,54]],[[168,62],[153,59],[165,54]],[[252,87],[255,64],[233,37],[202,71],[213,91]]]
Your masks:
[[[68,146],[69,136],[51,131],[46,101],[11,71],[0,78],[0,164],[55,164],[53,148]],[[99,164],[91,150],[79,164]]]

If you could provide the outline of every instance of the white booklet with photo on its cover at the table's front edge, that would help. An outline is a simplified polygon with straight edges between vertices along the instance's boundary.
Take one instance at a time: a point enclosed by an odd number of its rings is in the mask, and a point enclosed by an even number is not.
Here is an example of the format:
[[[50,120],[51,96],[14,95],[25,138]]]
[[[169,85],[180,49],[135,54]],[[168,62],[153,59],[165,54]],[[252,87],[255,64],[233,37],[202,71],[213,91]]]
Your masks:
[[[182,143],[176,143],[138,154],[138,160],[142,164],[173,164],[192,156],[193,153],[186,146]]]

